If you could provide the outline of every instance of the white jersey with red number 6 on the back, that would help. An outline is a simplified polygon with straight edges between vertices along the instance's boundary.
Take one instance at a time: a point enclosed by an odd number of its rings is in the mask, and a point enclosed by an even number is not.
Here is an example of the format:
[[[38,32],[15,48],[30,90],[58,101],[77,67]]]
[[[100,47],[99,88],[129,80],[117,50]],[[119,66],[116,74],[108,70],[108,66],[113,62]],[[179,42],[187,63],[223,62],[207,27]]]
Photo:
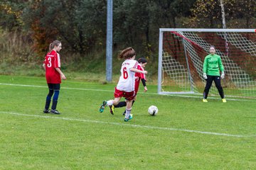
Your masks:
[[[122,63],[121,76],[117,84],[119,91],[134,91],[135,72],[132,72],[131,68],[137,68],[138,62],[136,60],[127,59]]]

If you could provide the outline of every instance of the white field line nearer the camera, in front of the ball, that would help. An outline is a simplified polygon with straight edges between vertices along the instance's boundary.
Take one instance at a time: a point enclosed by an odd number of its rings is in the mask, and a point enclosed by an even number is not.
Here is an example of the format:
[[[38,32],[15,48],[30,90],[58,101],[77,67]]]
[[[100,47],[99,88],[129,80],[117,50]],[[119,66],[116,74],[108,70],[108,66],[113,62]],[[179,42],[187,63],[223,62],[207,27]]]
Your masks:
[[[198,130],[186,130],[186,129],[178,129],[178,128],[161,128],[155,126],[148,126],[148,125],[132,125],[129,123],[112,123],[112,122],[103,122],[98,120],[85,120],[85,119],[78,119],[78,118],[63,118],[63,117],[55,117],[49,115],[28,115],[23,113],[14,113],[14,112],[6,112],[0,111],[0,114],[8,114],[8,115],[18,115],[18,116],[27,116],[27,117],[36,117],[36,118],[48,118],[48,119],[58,119],[58,120],[70,120],[70,121],[78,121],[78,122],[85,122],[85,123],[100,123],[100,124],[107,124],[107,125],[120,125],[120,126],[129,126],[132,128],[146,128],[146,129],[156,129],[156,130],[171,130],[171,131],[181,131],[181,132],[193,132],[193,133],[200,133],[205,135],[219,135],[225,137],[256,137],[256,135],[232,135],[227,133],[218,133],[218,132],[203,132]]]

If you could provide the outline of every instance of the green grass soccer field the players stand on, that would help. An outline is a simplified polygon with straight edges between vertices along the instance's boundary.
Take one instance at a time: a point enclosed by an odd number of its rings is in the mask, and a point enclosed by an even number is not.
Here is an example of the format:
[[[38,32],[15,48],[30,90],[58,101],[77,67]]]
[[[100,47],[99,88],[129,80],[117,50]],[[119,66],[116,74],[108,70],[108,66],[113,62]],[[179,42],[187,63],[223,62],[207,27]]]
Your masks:
[[[63,81],[62,114],[52,115],[43,77],[0,76],[0,169],[256,169],[255,101],[203,103],[148,86],[126,123],[124,108],[99,113],[114,86]]]

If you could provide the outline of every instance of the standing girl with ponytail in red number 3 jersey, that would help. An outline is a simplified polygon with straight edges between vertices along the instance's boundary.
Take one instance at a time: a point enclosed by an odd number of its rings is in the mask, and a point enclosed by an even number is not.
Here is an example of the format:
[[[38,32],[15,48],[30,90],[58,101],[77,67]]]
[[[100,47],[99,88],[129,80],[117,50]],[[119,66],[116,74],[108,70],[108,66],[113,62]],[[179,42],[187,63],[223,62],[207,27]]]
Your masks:
[[[51,42],[49,46],[49,52],[46,55],[45,60],[43,62],[43,69],[45,69],[46,71],[46,81],[49,88],[49,92],[46,97],[46,106],[43,110],[43,113],[60,114],[56,110],[56,107],[58,103],[58,96],[60,93],[61,79],[66,79],[65,75],[60,70],[60,55],[58,54],[60,50],[61,50],[60,41],[55,40]],[[53,104],[51,106],[51,110],[49,111],[50,100],[52,96],[53,96]]]

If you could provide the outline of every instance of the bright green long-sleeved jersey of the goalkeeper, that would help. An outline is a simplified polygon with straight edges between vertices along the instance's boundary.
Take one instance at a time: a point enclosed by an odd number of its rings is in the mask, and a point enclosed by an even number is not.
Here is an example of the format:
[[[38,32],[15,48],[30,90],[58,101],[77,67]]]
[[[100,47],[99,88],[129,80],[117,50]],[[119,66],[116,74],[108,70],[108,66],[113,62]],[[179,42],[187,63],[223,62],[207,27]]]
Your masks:
[[[210,76],[220,76],[224,71],[223,64],[219,55],[207,55],[203,62],[203,72]]]

